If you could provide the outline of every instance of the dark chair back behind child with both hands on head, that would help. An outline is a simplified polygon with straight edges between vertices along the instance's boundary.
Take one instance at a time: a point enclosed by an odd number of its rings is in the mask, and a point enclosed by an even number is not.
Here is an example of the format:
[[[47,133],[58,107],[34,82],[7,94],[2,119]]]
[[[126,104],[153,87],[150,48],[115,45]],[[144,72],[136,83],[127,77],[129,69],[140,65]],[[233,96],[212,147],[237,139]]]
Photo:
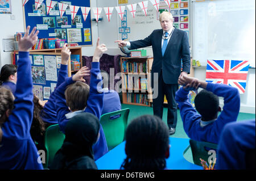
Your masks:
[[[191,146],[193,162],[196,165],[200,165],[200,166],[201,166],[200,158],[204,159],[204,161],[207,162],[209,165],[208,158],[210,157],[211,154],[208,154],[208,151],[209,150],[216,151],[218,146],[217,144],[213,144],[210,142],[195,141],[195,140],[189,140],[189,144]]]

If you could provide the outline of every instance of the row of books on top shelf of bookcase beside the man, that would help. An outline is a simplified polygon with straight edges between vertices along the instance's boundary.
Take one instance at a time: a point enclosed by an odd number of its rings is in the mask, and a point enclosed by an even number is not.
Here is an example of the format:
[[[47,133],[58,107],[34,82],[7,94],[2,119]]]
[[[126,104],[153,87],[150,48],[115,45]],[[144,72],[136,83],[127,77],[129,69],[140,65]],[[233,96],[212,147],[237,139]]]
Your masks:
[[[129,62],[128,60],[123,60],[122,69],[124,73],[146,73],[147,64],[139,62]]]

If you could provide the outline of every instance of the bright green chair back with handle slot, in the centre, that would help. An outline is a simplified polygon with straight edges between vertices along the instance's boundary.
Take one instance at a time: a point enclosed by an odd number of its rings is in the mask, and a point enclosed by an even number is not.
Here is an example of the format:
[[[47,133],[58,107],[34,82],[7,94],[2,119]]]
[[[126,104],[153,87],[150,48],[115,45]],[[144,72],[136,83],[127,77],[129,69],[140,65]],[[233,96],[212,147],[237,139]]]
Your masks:
[[[101,115],[100,123],[102,125],[108,149],[121,144],[125,140],[127,120],[130,109],[114,111]]]

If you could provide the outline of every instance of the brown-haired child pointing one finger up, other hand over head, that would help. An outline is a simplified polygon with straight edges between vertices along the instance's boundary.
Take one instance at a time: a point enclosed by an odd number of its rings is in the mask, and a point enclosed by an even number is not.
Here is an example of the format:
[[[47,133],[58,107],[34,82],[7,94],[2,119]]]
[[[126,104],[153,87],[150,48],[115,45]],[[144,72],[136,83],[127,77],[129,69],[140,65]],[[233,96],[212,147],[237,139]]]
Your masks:
[[[82,67],[75,75],[65,79],[55,92],[55,102],[57,108],[57,120],[60,131],[65,133],[67,122],[75,115],[81,112],[90,112],[100,119],[104,94],[101,88],[100,75],[100,58],[107,50],[104,44],[99,45],[100,39],[97,40],[97,47],[94,52],[92,69],[90,70],[90,86],[86,85],[82,77],[88,76],[89,70]],[[67,104],[66,104],[67,102]],[[93,145],[95,160],[108,152],[104,131],[100,125],[100,138]]]

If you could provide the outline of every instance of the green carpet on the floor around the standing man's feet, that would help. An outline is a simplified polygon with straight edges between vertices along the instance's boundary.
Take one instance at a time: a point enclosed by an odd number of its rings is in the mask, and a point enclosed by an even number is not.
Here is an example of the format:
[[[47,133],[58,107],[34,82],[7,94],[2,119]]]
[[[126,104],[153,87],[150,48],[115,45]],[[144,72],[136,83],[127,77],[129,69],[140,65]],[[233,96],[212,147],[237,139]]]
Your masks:
[[[152,107],[146,107],[146,106],[134,106],[130,104],[122,104],[122,109],[130,108],[130,113],[128,117],[128,124],[131,120],[138,116],[142,115],[153,115],[153,108]],[[243,120],[249,120],[249,119],[255,119],[255,114],[253,113],[242,113],[240,112],[238,114],[237,121],[243,121]],[[164,107],[163,110],[163,121],[167,125],[167,108]],[[180,111],[177,110],[177,126],[176,126],[176,133],[172,135],[171,137],[177,137],[177,138],[188,138],[187,134],[184,132],[183,129],[183,123],[180,117]],[[184,158],[187,159],[187,161],[193,163],[192,159],[192,152],[191,149],[187,151],[187,153],[184,155]]]

